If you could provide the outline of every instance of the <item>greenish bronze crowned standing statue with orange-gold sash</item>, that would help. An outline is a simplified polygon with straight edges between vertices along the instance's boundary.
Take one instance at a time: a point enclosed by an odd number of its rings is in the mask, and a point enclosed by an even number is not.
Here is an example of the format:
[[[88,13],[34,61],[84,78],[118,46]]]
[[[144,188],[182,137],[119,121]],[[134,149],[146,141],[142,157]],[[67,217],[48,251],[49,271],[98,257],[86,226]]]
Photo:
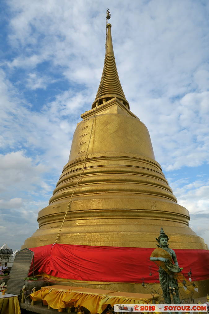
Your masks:
[[[175,304],[180,304],[177,273],[181,272],[183,268],[179,267],[174,250],[168,247],[169,237],[165,234],[163,228],[160,229],[159,237],[155,239],[158,241],[158,248],[152,252],[150,261],[159,266],[159,281],[165,304],[171,304],[170,295],[172,295]]]

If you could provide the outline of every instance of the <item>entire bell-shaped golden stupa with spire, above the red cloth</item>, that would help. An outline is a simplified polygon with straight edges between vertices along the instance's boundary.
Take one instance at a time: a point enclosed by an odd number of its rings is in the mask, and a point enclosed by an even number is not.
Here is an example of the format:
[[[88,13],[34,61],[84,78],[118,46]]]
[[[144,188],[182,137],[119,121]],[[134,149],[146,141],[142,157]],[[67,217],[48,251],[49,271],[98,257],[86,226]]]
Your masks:
[[[148,129],[129,110],[116,68],[111,24],[96,99],[81,118],[69,161],[49,205],[38,214],[39,229],[22,248],[55,243],[75,190],[57,243],[154,248],[163,226],[172,249],[207,250],[188,227],[188,210],[177,203],[155,160]]]

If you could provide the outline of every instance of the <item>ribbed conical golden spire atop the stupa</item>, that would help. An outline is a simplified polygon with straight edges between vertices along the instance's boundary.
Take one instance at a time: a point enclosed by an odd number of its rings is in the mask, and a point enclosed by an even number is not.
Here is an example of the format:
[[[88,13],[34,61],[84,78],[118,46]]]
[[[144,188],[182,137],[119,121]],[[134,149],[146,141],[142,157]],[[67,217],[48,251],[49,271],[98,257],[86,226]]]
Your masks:
[[[107,40],[104,68],[102,72],[101,82],[99,84],[95,101],[92,104],[92,108],[96,107],[96,103],[98,100],[100,100],[99,104],[102,104],[113,97],[117,97],[129,109],[129,104],[123,93],[123,89],[118,77],[118,71],[116,68],[115,56],[112,46],[111,24],[107,24]]]

